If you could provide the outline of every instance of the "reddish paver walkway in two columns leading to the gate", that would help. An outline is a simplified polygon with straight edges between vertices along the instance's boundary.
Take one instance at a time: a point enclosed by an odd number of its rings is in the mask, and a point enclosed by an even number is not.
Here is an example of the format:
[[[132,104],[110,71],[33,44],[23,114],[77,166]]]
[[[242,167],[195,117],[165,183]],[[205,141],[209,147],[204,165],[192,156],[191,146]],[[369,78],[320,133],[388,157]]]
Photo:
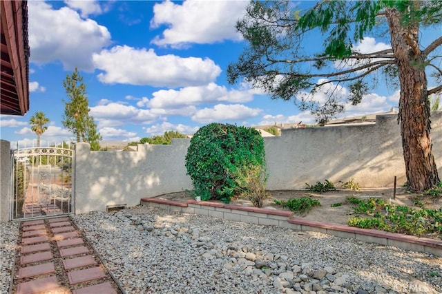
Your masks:
[[[121,294],[68,217],[21,222],[12,293]]]

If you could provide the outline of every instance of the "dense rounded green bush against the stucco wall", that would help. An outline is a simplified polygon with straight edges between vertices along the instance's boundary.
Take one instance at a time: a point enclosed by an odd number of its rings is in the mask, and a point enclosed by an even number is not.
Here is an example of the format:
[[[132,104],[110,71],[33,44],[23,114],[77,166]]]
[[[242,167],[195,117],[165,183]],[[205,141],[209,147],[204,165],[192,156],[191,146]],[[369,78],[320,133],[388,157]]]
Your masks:
[[[256,129],[211,123],[195,133],[187,149],[187,174],[202,200],[228,203],[248,192],[237,178],[254,166],[265,171],[264,141]]]

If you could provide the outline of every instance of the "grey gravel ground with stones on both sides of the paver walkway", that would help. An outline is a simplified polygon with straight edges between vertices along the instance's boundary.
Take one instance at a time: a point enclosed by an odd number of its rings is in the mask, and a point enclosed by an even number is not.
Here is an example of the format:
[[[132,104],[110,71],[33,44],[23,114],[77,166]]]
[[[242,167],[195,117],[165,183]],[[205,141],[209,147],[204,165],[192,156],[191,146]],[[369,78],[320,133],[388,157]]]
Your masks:
[[[73,216],[126,293],[442,293],[442,258],[152,207]],[[1,223],[1,293],[17,224]]]

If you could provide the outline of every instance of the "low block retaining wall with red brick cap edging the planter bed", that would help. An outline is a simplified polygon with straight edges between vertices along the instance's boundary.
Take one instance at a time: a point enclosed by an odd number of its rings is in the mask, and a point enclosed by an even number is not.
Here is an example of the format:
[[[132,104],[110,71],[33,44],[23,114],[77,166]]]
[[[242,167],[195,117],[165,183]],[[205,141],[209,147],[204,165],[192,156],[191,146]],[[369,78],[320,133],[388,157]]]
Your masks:
[[[142,198],[140,204],[168,211],[213,216],[214,218],[236,222],[285,227],[296,231],[316,231],[341,238],[353,238],[410,251],[427,252],[442,257],[442,240],[294,218],[294,213],[291,211],[261,209],[209,201],[187,200],[186,202],[177,202],[158,198]]]

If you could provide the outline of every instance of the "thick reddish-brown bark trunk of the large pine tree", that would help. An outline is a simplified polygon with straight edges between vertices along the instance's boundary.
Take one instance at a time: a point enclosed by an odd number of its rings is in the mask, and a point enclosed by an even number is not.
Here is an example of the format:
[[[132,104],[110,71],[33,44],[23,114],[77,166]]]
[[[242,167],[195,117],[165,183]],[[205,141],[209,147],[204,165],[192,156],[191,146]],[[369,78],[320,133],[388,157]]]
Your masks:
[[[419,2],[414,5],[419,6]],[[419,24],[408,23],[404,27],[395,9],[387,9],[386,17],[401,84],[398,120],[407,184],[412,191],[424,191],[440,180],[432,154],[430,102],[423,65],[425,56],[419,48]]]

